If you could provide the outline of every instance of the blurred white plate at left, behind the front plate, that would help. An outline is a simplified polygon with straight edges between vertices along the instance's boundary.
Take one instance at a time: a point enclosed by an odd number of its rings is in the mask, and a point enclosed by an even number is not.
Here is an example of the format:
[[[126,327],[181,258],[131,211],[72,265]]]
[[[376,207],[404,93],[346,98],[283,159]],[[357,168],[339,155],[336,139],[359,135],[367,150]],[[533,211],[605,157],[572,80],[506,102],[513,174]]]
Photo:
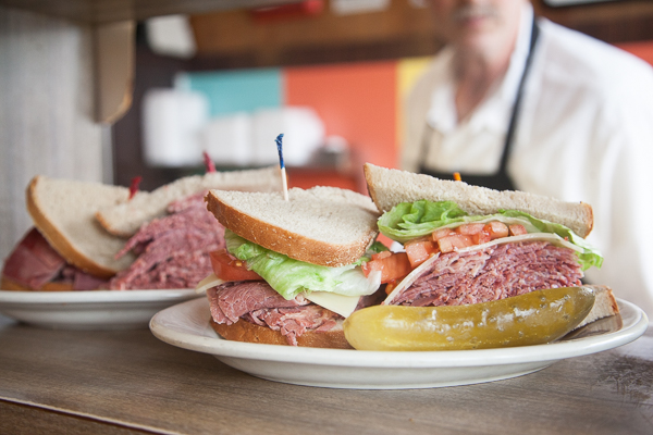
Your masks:
[[[158,311],[199,296],[195,289],[0,290],[0,313],[35,326],[56,330],[146,328]]]

